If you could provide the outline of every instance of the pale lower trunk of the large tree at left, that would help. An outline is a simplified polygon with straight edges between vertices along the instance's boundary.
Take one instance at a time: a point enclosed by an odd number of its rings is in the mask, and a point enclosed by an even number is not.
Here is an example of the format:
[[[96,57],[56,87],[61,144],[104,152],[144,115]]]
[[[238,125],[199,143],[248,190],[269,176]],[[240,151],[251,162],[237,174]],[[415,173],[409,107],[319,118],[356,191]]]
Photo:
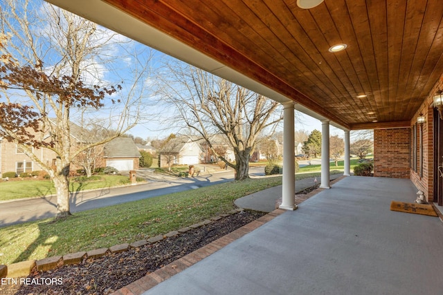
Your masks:
[[[56,219],[66,218],[71,215],[69,208],[69,164],[59,171],[55,173],[55,177],[53,178],[55,191],[57,193]]]

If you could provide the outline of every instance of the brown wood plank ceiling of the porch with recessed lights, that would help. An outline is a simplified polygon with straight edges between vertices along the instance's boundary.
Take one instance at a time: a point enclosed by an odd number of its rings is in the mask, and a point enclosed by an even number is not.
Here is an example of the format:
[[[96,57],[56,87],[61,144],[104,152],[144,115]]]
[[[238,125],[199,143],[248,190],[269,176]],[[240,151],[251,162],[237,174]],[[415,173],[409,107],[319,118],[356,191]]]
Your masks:
[[[408,125],[443,73],[442,0],[105,2],[349,129]]]

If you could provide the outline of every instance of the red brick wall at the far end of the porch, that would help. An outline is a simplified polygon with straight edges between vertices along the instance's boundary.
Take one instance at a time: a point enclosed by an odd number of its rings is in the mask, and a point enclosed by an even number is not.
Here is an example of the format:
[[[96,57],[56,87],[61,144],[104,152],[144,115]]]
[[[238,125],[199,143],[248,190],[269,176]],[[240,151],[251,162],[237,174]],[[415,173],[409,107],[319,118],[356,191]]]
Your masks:
[[[410,129],[374,130],[374,176],[410,178]]]

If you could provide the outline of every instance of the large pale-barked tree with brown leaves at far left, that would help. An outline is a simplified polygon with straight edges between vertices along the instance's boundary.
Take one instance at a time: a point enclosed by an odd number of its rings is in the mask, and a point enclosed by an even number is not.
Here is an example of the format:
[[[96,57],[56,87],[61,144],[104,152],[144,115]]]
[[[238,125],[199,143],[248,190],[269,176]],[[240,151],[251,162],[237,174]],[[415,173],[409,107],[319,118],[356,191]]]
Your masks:
[[[57,191],[57,217],[69,216],[71,162],[83,151],[109,142],[138,122],[147,64],[135,62],[133,83],[116,93],[104,73],[117,60],[111,55],[122,39],[40,1],[3,1],[0,33],[1,53],[8,57],[2,59],[2,107],[6,117],[0,129],[51,176]],[[127,43],[121,47],[127,50],[130,46]],[[73,142],[71,118],[85,113],[109,120],[108,126],[116,132],[94,142]],[[21,134],[14,132],[10,125],[14,122],[21,123]],[[55,163],[42,162],[31,145],[51,149]]]

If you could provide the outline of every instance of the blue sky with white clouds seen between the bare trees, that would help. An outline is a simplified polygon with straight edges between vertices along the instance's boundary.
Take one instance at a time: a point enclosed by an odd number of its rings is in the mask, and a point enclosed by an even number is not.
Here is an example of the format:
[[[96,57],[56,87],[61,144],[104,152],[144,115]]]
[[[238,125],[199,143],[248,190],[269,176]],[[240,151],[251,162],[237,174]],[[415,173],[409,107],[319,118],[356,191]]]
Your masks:
[[[19,1],[17,1],[19,3]],[[1,4],[1,9],[4,8],[4,3]],[[19,4],[17,4],[19,5]],[[49,4],[44,1],[31,1],[31,4],[35,6],[34,10],[36,15],[42,15],[44,8]],[[21,8],[20,8],[21,9]],[[51,32],[51,26],[48,23],[35,23],[33,26],[37,35],[42,36],[42,39],[48,40],[48,35]],[[111,39],[109,45],[105,46],[105,54],[102,56],[91,56],[89,60],[85,61],[87,64],[87,70],[82,74],[82,79],[85,82],[91,84],[99,84],[102,86],[121,84],[123,91],[120,91],[119,95],[122,97],[128,97],[129,95],[139,95],[143,97],[142,111],[145,118],[142,122],[131,129],[128,133],[134,136],[146,138],[146,137],[158,137],[163,138],[170,133],[176,133],[177,129],[165,124],[161,120],[164,117],[172,115],[172,109],[165,109],[161,104],[154,104],[152,100],[156,99],[151,86],[155,83],[155,77],[159,74],[159,70],[163,59],[172,59],[163,53],[148,48],[143,44],[138,44],[136,41],[130,41],[127,37],[122,35],[116,35],[114,32],[100,27],[96,32],[96,44],[100,44],[103,39]],[[17,37],[12,35],[12,41],[18,42]],[[43,41],[44,50],[48,50],[44,59],[44,66],[47,70],[53,68],[52,65],[57,64],[60,60],[60,50],[57,48],[45,48],[47,41]],[[23,48],[25,44],[20,44],[19,48]],[[138,62],[140,59],[142,62]],[[137,70],[145,69],[145,74],[141,76],[141,79],[134,84],[134,74]],[[0,98],[1,100],[1,98]],[[103,110],[95,111],[91,113],[92,117],[106,117],[109,109],[105,107]],[[118,113],[118,109],[114,110],[114,113]],[[161,115],[159,115],[161,114]],[[73,113],[75,115],[75,113]],[[73,118],[75,120],[75,118]],[[302,124],[300,124],[302,122]],[[170,128],[171,127],[171,128]],[[321,122],[308,115],[296,113],[296,130],[305,130],[308,133],[317,129],[321,131]],[[343,136],[343,131],[335,129],[331,126],[331,135]]]

